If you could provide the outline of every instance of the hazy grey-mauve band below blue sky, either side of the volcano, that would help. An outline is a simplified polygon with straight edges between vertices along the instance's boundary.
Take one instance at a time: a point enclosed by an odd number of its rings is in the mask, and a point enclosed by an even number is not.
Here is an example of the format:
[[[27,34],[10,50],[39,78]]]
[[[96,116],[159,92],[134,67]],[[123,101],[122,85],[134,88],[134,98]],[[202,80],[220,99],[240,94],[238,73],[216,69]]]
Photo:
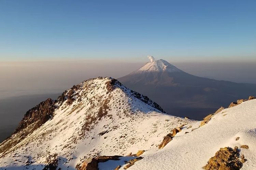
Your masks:
[[[144,63],[110,60],[0,62],[0,98],[60,93],[89,78],[117,79],[136,71],[146,62],[147,59],[144,59]],[[199,77],[256,84],[256,62],[170,63]]]

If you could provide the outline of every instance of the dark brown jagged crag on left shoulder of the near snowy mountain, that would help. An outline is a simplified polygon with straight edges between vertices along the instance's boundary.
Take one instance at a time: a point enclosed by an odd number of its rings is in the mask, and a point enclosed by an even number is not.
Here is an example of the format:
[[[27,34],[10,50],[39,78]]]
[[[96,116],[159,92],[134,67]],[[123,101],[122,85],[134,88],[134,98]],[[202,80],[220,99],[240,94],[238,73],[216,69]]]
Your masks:
[[[55,100],[49,98],[27,111],[13,134],[22,131],[32,123],[36,123],[33,126],[34,130],[42,126],[46,121],[53,117],[53,112],[56,108],[55,102]]]

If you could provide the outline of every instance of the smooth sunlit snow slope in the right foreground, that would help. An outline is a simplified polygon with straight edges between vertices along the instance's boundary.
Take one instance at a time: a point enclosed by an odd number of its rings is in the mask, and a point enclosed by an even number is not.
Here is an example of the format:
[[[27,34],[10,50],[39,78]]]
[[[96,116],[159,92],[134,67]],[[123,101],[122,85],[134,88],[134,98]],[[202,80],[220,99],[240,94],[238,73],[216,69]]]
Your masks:
[[[195,122],[193,126],[198,127]],[[190,128],[193,129],[193,128]],[[256,99],[224,109],[200,128],[190,132],[183,129],[165,148],[145,152],[144,157],[129,170],[198,170],[224,147],[237,146],[247,161],[241,169],[256,169]],[[189,133],[185,132],[188,131]],[[236,140],[240,137],[239,140]],[[248,145],[248,149],[240,148]]]

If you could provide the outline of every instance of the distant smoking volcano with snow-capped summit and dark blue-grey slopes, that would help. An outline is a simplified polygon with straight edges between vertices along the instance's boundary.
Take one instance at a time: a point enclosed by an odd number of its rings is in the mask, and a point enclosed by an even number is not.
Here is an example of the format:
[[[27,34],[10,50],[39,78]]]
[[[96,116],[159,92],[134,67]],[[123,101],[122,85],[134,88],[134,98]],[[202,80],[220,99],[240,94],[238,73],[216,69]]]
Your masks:
[[[167,113],[197,120],[230,101],[256,95],[255,84],[197,77],[165,60],[148,62],[118,80],[156,101]]]

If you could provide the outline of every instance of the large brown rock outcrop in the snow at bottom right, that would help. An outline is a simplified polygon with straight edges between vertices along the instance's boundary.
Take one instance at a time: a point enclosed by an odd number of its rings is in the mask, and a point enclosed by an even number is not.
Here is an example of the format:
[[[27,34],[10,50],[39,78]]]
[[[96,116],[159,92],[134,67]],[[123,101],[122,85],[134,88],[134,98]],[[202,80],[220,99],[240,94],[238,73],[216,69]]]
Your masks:
[[[239,158],[238,148],[221,148],[211,157],[208,164],[203,168],[205,170],[238,170],[242,168],[245,162],[244,156]]]

